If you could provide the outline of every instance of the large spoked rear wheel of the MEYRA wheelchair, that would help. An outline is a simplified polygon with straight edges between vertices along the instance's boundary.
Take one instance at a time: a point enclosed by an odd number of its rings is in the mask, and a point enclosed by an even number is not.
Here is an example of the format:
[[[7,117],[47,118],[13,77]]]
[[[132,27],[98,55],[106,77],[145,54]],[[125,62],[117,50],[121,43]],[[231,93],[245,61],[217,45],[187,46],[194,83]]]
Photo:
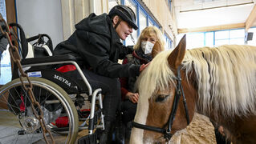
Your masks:
[[[28,81],[24,78],[26,86]],[[30,78],[35,99],[55,143],[75,143],[78,114],[68,94],[54,82]],[[46,143],[40,122],[31,109],[31,100],[17,78],[0,89],[0,143]],[[35,107],[39,114],[39,107]],[[48,142],[51,137],[47,135]]]

